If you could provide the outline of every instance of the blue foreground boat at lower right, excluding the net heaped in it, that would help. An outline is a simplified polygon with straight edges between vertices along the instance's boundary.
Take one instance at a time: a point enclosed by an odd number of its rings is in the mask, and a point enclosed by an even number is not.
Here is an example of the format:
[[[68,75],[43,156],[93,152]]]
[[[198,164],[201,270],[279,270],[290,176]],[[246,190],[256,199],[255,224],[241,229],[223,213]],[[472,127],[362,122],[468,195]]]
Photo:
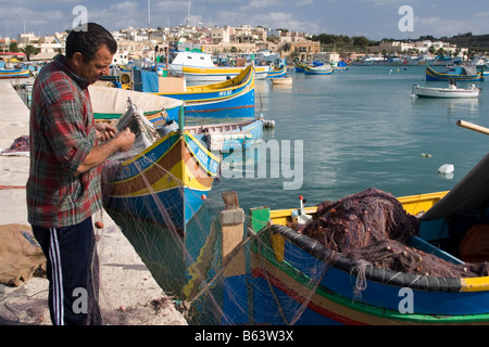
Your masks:
[[[419,267],[429,260],[462,273],[479,268],[477,261],[488,258],[481,241],[488,223],[488,171],[489,154],[450,192],[399,198],[406,213],[418,215],[418,234],[386,252],[412,255]],[[287,226],[298,216],[313,219],[316,211],[252,210],[256,237],[252,273],[256,285],[262,283],[255,291],[261,297],[254,299],[272,303],[258,312],[255,308],[255,314],[260,314],[254,317],[256,323],[489,323],[487,270],[474,277],[413,273],[384,268],[380,260],[352,259],[304,230],[298,232]],[[324,211],[322,218],[328,218]],[[274,291],[266,292],[268,285]]]

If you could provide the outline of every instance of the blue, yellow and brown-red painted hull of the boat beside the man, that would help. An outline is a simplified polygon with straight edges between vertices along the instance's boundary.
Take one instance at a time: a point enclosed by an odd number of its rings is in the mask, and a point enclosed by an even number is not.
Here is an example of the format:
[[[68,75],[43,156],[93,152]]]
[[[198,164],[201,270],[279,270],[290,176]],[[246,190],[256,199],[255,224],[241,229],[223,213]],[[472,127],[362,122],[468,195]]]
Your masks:
[[[139,220],[185,230],[217,176],[218,159],[188,132],[172,132],[122,163],[104,205]]]

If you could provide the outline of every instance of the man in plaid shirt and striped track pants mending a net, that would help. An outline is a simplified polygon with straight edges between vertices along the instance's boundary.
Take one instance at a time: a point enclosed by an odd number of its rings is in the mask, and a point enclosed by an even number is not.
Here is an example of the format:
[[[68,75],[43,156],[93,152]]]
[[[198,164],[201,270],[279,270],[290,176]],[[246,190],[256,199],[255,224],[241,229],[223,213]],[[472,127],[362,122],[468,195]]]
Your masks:
[[[48,260],[54,325],[101,324],[91,216],[102,207],[101,167],[135,136],[93,120],[88,86],[109,73],[117,44],[98,24],[73,30],[36,79],[30,107],[27,213]]]

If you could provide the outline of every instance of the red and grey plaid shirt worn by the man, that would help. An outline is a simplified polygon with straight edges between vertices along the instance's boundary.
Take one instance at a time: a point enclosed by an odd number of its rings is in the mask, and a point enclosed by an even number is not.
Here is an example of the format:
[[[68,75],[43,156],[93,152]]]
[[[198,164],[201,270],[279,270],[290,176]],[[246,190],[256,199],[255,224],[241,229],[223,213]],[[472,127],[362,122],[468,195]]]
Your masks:
[[[36,78],[27,181],[27,213],[33,226],[74,226],[102,206],[101,168],[75,175],[97,142],[88,85],[61,54]]]

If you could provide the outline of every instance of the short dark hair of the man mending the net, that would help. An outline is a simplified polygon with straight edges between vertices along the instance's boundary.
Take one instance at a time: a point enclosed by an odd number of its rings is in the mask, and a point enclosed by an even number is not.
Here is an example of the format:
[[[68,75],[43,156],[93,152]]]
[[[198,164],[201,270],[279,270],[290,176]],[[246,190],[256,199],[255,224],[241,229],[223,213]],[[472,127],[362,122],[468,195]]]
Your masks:
[[[71,59],[73,54],[80,52],[84,62],[88,63],[102,44],[105,44],[112,54],[117,51],[117,42],[111,33],[99,24],[87,23],[86,29],[70,33],[66,38],[66,56]]]

